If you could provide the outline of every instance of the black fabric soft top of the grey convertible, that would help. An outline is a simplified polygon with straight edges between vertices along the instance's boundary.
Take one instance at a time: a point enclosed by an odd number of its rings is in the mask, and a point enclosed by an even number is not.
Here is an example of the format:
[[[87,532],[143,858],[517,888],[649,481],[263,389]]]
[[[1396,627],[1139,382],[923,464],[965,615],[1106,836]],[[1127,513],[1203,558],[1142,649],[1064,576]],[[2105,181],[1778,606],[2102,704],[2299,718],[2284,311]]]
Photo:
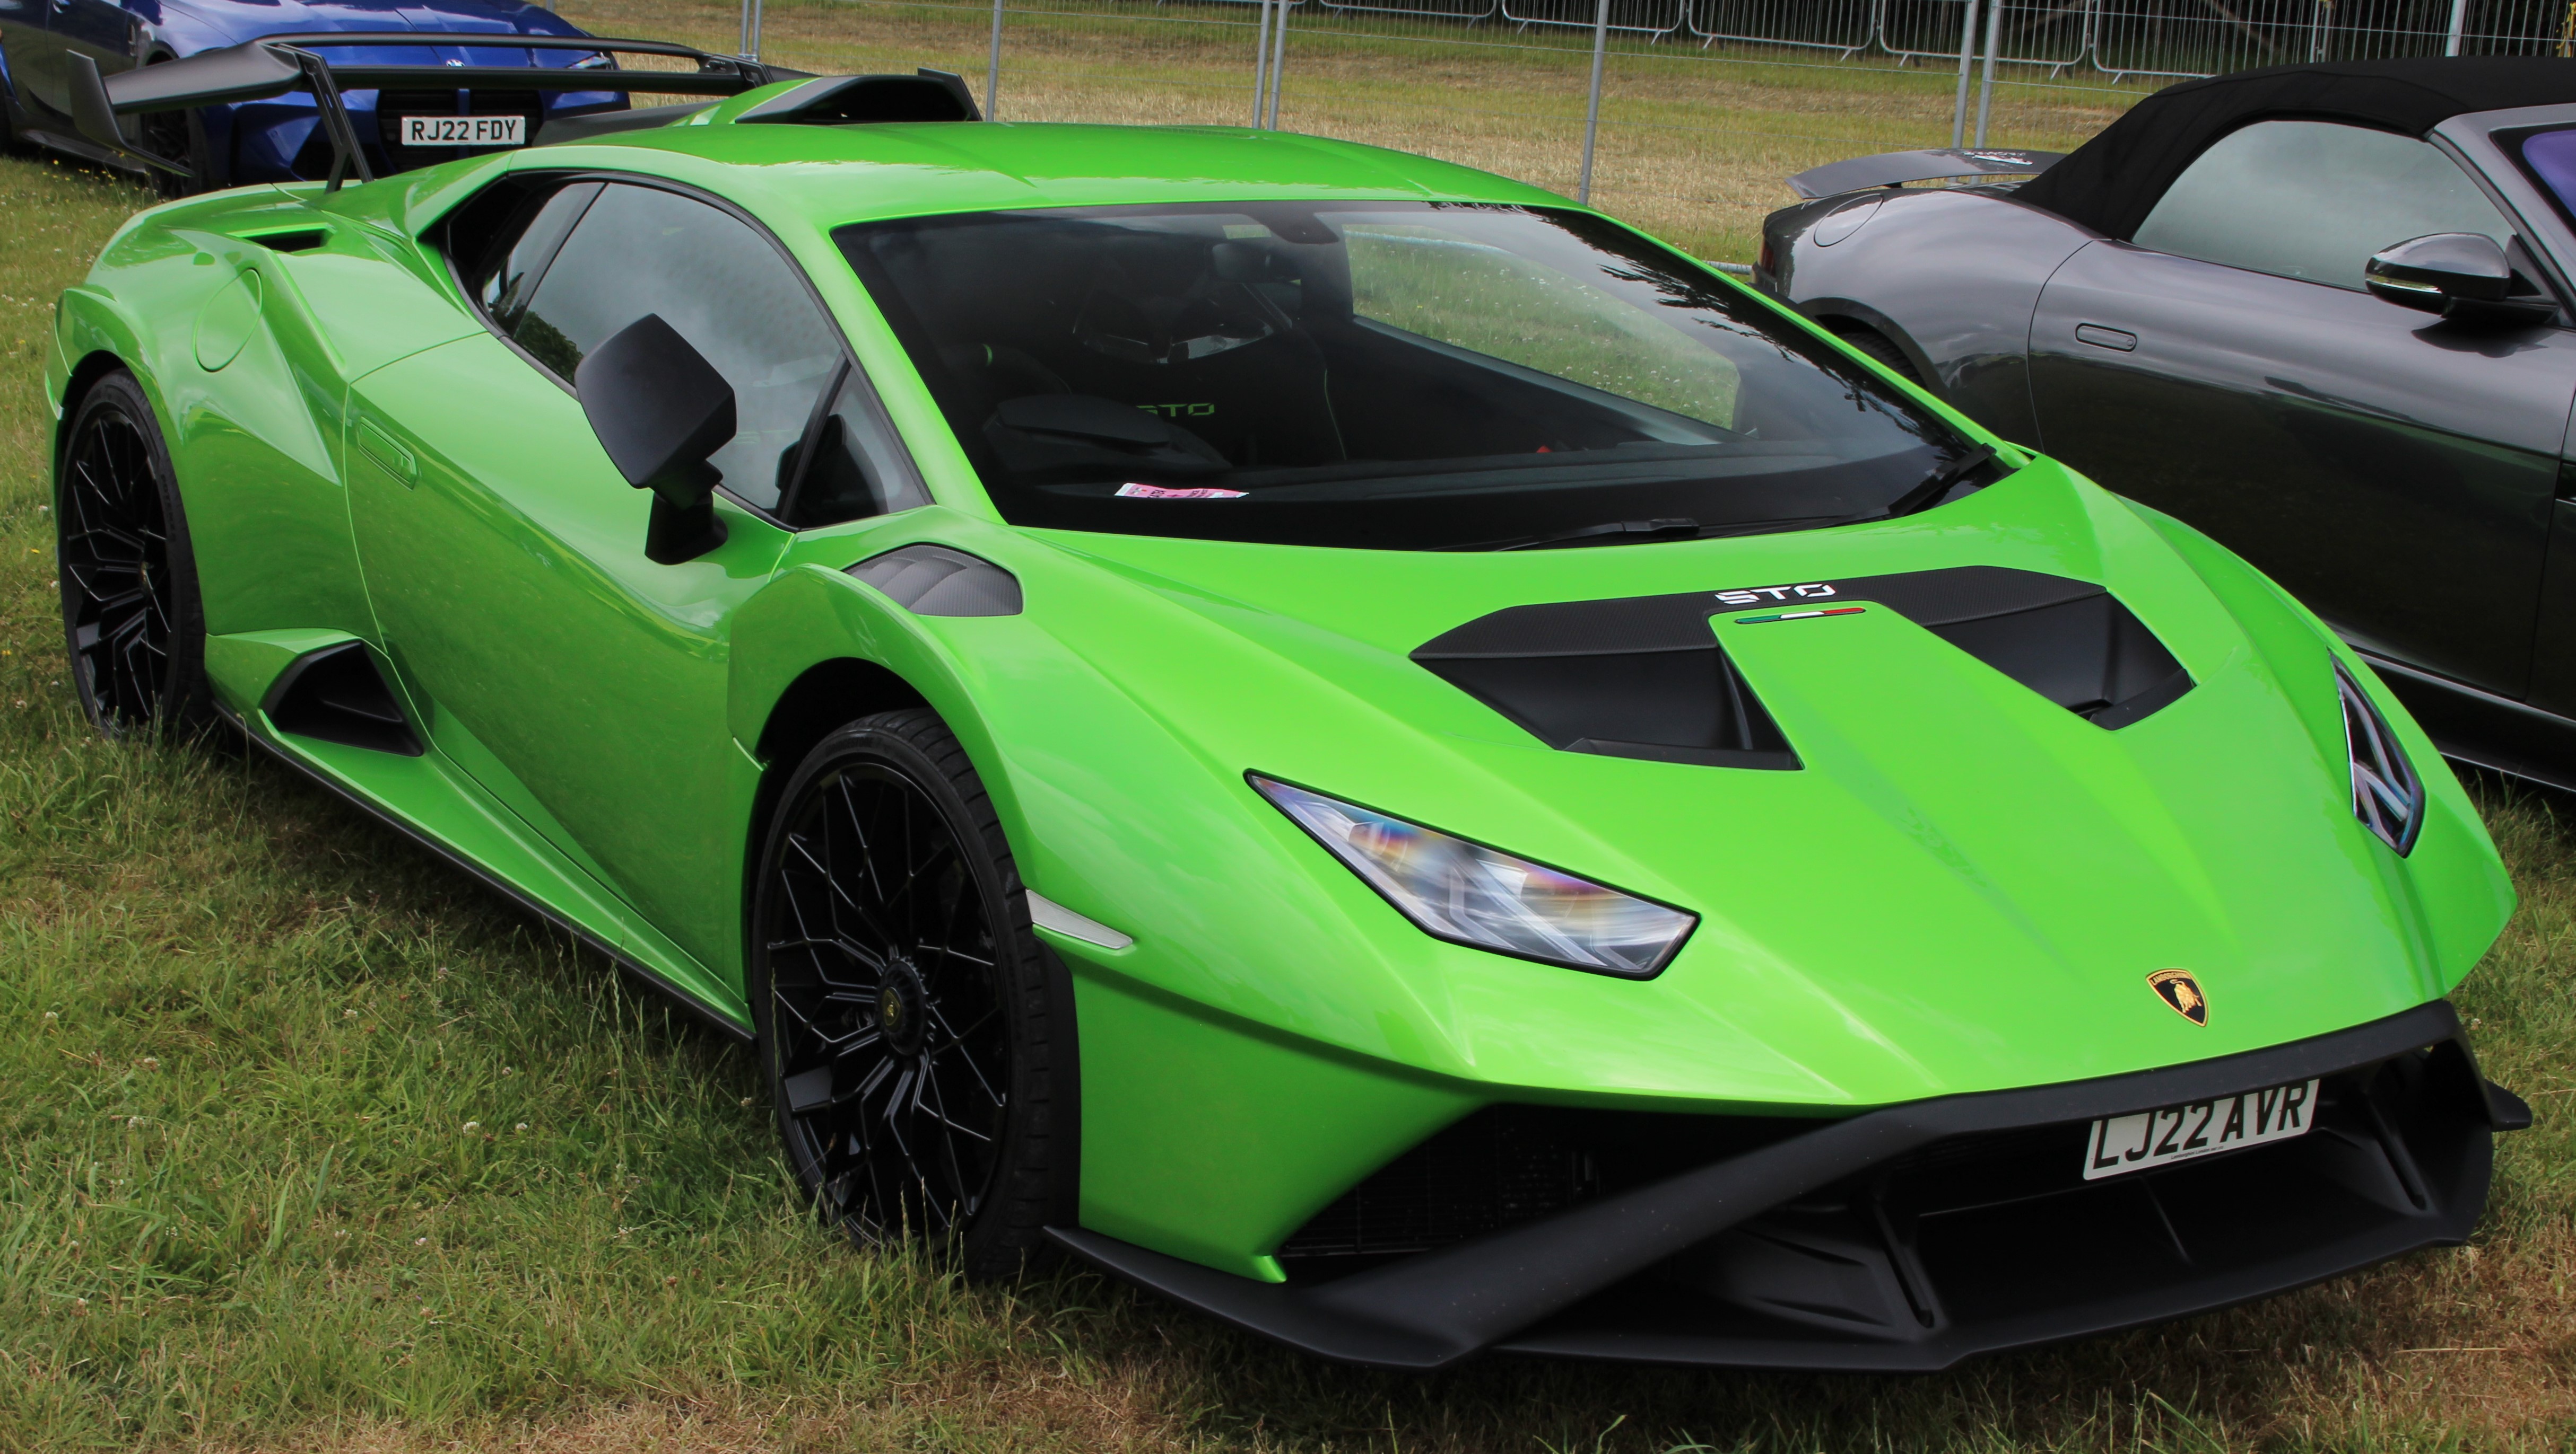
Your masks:
[[[2421,136],[2465,111],[2576,100],[2576,62],[2558,57],[2416,57],[2241,69],[2148,95],[2017,201],[2130,237],[2164,188],[2213,142],[2249,121],[2349,121]]]

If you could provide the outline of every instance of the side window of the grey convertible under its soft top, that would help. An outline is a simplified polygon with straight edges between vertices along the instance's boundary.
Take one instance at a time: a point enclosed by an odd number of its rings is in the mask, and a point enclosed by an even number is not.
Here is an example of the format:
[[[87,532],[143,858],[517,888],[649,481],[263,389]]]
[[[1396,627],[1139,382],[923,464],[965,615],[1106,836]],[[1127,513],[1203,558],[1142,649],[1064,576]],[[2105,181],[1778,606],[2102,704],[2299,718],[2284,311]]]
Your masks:
[[[2504,214],[2429,142],[2334,121],[2257,121],[2184,167],[2133,242],[2360,291],[2372,252],[2429,232],[2514,244]]]

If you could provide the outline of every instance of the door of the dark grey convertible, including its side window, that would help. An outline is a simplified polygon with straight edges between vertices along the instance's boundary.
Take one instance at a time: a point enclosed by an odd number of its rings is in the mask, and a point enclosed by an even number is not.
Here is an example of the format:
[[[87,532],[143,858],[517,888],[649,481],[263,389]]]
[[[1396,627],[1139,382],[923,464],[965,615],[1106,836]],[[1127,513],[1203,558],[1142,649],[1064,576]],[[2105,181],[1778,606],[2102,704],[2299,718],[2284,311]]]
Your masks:
[[[2048,281],[2030,394],[2043,448],[2208,530],[2354,643],[2519,697],[2576,332],[2362,291],[2372,252],[2432,232],[2519,247],[2427,142],[2239,129],[2136,242],[2092,242]]]

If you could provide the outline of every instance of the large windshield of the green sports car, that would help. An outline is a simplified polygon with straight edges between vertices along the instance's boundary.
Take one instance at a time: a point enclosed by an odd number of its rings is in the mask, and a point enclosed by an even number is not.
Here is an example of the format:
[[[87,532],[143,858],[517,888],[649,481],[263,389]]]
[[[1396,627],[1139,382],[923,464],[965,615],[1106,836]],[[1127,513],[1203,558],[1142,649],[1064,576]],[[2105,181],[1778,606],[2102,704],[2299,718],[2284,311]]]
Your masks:
[[[1973,474],[1927,409],[1595,216],[1128,206],[835,237],[1015,525],[1587,546],[1875,520]]]

